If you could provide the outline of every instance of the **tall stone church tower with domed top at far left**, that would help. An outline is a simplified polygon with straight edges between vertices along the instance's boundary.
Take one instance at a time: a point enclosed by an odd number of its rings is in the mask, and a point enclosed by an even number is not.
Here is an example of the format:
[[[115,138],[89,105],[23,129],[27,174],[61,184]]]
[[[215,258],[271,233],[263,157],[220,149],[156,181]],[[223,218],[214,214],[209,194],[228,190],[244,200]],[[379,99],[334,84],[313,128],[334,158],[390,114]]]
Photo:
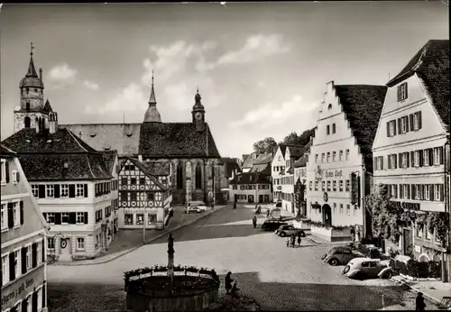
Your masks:
[[[21,80],[21,105],[14,109],[14,133],[23,128],[35,128],[36,121],[43,120],[43,124],[48,122],[51,105],[47,101],[44,105],[44,84],[42,82],[42,69],[39,70],[39,77],[34,68],[32,60],[31,43],[30,64],[25,77]]]

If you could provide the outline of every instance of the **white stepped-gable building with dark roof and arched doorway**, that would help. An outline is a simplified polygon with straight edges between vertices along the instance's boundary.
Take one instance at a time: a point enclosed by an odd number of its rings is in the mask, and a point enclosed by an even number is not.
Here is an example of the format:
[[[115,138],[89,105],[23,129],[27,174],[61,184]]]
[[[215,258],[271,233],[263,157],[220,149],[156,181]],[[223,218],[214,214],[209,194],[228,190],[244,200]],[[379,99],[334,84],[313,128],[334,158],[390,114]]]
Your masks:
[[[307,164],[311,220],[358,225],[362,230],[364,194],[373,172],[371,147],[386,90],[384,86],[327,83]]]

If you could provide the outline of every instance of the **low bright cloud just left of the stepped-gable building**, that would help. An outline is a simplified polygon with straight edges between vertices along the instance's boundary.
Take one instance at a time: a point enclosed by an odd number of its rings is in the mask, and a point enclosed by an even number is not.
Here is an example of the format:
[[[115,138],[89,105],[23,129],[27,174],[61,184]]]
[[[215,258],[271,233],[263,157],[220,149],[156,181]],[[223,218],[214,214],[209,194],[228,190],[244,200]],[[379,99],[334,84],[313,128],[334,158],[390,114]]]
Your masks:
[[[266,129],[272,126],[281,125],[299,115],[306,116],[306,121],[311,117],[316,105],[308,105],[302,101],[302,96],[295,95],[289,101],[277,104],[265,104],[247,112],[240,120],[229,123],[229,127],[241,127],[244,125],[257,126]],[[299,124],[301,120],[299,120]]]

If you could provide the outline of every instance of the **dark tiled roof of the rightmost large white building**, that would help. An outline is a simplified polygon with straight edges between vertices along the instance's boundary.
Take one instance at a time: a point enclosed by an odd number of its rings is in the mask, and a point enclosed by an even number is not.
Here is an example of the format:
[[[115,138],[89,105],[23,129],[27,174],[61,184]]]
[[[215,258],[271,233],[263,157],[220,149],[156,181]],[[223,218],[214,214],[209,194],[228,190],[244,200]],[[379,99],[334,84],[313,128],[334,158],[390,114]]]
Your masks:
[[[414,73],[424,81],[438,115],[449,125],[449,40],[428,41],[387,86],[393,87]]]

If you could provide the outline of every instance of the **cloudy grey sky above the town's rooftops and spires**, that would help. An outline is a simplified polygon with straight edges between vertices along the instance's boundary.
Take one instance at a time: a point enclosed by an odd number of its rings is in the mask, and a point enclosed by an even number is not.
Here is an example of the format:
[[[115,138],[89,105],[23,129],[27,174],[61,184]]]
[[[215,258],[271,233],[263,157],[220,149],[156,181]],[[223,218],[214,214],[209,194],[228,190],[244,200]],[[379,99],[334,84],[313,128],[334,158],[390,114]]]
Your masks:
[[[441,2],[3,5],[1,137],[30,60],[60,124],[141,123],[154,70],[162,122],[198,88],[221,156],[314,127],[328,81],[385,85],[430,39]]]

